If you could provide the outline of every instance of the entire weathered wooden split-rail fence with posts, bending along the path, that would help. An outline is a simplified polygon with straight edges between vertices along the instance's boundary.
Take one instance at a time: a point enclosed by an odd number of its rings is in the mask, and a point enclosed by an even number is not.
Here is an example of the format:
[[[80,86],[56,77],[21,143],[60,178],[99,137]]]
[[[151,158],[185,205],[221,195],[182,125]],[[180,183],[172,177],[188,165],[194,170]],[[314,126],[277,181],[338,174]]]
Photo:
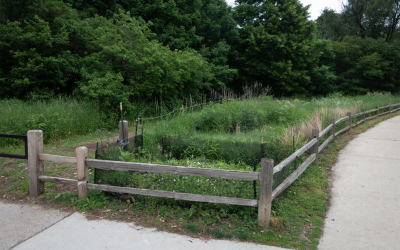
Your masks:
[[[334,120],[334,118],[331,118],[330,124],[326,128],[324,128],[320,132],[318,131],[318,129],[312,129],[313,138],[310,141],[308,141],[305,145],[303,145],[301,148],[299,148],[297,151],[295,151],[290,156],[285,158],[283,161],[278,163],[276,166],[274,166],[272,159],[262,158],[260,172],[89,159],[87,158],[87,148],[84,146],[76,148],[75,151],[76,157],[46,154],[43,153],[42,131],[29,130],[27,132],[29,195],[37,196],[41,194],[44,189],[44,182],[54,182],[54,183],[69,184],[76,186],[78,190],[79,199],[82,199],[85,196],[87,196],[89,189],[97,189],[103,191],[168,197],[168,198],[190,200],[190,201],[203,201],[203,202],[255,206],[258,207],[258,223],[266,229],[269,227],[272,200],[276,198],[280,193],[282,193],[291,183],[293,183],[293,181],[296,180],[298,176],[300,176],[300,174],[310,164],[317,164],[318,153],[330,141],[334,140],[335,136],[339,135],[340,133],[346,131],[347,129],[350,129],[351,127],[365,120],[369,120],[379,115],[399,110],[400,107],[393,109],[393,107],[396,106],[400,106],[400,102],[396,104],[388,103],[388,105],[383,107],[376,106],[376,108],[367,111],[365,111],[365,109],[362,109],[362,111],[357,114],[347,113],[347,116],[342,117],[338,120]],[[380,113],[379,111],[382,109],[388,109],[388,110]],[[375,114],[373,116],[365,118],[365,114],[371,112],[375,112]],[[352,123],[352,118],[358,116],[362,116],[362,119],[360,119],[356,123]],[[340,129],[339,131],[335,131],[336,125],[344,121],[347,121],[347,126]],[[329,137],[319,145],[319,138],[321,138],[328,132],[330,133]],[[305,160],[303,160],[303,162],[296,168],[296,170],[294,170],[274,190],[272,190],[273,174],[281,171],[284,167],[287,167],[290,163],[292,163],[295,159],[300,157],[307,150],[310,150],[310,155]],[[77,179],[68,179],[68,178],[60,178],[60,177],[52,177],[44,175],[44,168],[43,168],[44,160],[76,163]],[[221,197],[213,195],[93,184],[88,182],[89,167],[107,169],[107,170],[171,173],[171,174],[181,174],[181,175],[194,175],[194,176],[218,177],[218,178],[230,178],[230,179],[242,179],[242,180],[259,180],[260,181],[259,199]]]

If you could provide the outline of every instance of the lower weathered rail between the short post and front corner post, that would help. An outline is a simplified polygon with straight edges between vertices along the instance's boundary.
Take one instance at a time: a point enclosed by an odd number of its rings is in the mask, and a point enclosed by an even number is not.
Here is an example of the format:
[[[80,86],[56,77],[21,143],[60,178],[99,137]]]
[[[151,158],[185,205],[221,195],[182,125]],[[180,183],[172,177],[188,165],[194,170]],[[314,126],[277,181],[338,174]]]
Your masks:
[[[130,193],[130,194],[141,194],[141,195],[148,195],[148,196],[183,199],[183,200],[190,200],[190,201],[203,201],[203,202],[210,202],[210,203],[224,203],[224,204],[232,204],[232,205],[257,206],[257,203],[258,203],[256,199],[220,197],[220,196],[213,196],[213,195],[170,192],[170,191],[150,190],[150,189],[141,189],[141,188],[134,188],[134,187],[122,187],[122,186],[109,186],[109,185],[100,185],[100,184],[91,184],[91,183],[87,183],[87,188],[108,191],[108,192],[123,192],[123,193]]]

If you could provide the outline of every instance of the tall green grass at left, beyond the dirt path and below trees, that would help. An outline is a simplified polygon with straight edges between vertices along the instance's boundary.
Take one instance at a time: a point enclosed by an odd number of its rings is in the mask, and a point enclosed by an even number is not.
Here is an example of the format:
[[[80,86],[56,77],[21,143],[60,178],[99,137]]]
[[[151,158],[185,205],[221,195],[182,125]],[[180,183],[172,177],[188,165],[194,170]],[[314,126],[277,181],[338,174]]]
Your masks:
[[[29,129],[41,129],[45,143],[109,126],[98,107],[74,99],[2,99],[0,107],[0,133],[26,134]]]

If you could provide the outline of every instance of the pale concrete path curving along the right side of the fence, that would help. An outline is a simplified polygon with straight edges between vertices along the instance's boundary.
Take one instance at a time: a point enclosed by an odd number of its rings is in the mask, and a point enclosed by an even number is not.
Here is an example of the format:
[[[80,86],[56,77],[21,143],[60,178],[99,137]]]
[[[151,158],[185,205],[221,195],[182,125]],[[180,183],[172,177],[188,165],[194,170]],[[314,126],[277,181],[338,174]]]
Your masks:
[[[318,248],[400,249],[400,115],[339,152]]]

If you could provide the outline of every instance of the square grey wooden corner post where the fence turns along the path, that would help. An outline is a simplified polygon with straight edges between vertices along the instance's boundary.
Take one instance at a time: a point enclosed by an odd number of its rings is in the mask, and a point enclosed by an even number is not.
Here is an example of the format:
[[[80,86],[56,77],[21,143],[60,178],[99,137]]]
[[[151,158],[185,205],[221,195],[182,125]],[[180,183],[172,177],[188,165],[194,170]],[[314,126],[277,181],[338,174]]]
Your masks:
[[[273,159],[261,159],[260,187],[258,200],[258,224],[269,228],[272,202]]]

